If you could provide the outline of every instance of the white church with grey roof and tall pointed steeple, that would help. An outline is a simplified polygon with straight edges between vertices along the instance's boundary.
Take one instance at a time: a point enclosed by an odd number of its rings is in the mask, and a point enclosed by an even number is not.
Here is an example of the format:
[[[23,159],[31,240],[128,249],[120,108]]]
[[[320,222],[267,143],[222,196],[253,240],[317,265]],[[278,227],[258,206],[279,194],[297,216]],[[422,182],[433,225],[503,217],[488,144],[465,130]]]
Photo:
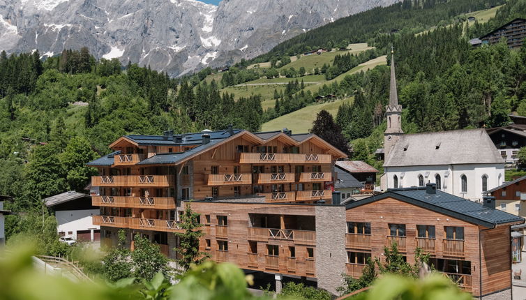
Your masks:
[[[484,192],[504,181],[504,159],[486,130],[404,134],[401,116],[392,54],[382,190],[430,182],[446,193],[479,202]]]

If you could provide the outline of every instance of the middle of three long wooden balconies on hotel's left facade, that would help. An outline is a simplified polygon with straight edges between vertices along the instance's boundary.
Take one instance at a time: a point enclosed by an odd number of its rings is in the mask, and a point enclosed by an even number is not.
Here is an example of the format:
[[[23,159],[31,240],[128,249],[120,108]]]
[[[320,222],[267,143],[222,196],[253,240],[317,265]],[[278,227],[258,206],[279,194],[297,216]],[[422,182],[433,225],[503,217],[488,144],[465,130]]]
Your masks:
[[[93,196],[91,204],[96,207],[127,207],[142,209],[175,209],[176,202],[172,197],[122,197]]]

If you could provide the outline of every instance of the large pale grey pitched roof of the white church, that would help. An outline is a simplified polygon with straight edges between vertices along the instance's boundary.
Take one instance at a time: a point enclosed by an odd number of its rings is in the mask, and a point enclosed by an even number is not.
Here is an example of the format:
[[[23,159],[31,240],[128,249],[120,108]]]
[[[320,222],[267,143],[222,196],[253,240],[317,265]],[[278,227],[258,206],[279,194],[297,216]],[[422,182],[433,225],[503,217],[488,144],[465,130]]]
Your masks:
[[[384,167],[472,163],[504,164],[484,129],[401,135],[389,151]]]

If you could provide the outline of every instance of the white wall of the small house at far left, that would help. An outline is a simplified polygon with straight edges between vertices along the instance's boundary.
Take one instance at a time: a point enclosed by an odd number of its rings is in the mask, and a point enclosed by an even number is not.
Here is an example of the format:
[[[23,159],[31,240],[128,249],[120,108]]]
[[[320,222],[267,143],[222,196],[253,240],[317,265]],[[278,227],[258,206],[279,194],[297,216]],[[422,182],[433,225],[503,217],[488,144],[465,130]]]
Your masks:
[[[91,216],[98,216],[100,211],[98,209],[85,209],[82,211],[55,211],[57,218],[58,232],[64,232],[66,236],[72,235],[77,239],[77,231],[79,230],[98,230],[100,226],[93,225]],[[73,232],[73,234],[68,234]],[[93,234],[91,237],[93,241]]]

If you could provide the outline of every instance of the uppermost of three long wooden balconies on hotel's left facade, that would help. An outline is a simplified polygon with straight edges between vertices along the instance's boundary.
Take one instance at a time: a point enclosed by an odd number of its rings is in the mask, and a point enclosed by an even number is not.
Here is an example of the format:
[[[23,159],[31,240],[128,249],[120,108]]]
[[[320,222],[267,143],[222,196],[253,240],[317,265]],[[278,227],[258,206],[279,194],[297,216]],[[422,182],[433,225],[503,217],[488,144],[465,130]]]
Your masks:
[[[120,175],[93,176],[92,186],[136,186],[136,187],[169,187],[174,186],[173,175]]]

